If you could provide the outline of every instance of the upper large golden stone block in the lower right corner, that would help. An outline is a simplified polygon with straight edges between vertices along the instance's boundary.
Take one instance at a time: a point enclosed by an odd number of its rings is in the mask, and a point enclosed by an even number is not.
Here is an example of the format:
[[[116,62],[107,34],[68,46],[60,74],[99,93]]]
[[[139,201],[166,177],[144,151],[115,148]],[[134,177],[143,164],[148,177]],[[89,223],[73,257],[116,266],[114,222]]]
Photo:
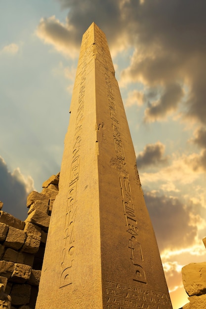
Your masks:
[[[206,293],[206,262],[190,263],[182,268],[182,282],[189,296]]]

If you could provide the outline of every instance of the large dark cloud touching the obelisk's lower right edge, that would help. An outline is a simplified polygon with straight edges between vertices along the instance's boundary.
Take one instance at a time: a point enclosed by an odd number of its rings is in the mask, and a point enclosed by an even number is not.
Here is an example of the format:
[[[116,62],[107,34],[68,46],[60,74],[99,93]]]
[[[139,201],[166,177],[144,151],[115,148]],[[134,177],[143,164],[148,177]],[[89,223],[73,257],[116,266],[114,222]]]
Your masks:
[[[196,226],[190,225],[192,205],[185,205],[178,198],[145,194],[145,202],[158,240],[160,251],[178,249],[195,242]]]

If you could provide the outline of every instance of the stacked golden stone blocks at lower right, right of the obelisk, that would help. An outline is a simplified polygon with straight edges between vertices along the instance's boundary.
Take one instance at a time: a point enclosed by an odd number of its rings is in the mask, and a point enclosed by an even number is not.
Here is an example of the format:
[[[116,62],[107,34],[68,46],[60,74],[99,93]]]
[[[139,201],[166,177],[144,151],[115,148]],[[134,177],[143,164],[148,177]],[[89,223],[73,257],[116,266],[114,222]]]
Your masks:
[[[206,237],[203,239],[206,246]],[[182,268],[182,282],[189,303],[183,309],[206,309],[206,262],[190,263]]]

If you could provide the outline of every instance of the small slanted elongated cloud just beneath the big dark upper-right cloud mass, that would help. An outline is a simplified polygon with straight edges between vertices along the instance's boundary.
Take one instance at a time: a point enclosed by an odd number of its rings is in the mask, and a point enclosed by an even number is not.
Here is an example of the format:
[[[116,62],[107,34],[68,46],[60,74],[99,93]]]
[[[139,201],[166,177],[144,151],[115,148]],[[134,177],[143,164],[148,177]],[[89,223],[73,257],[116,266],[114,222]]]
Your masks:
[[[183,90],[179,84],[173,83],[167,85],[161,98],[155,103],[148,104],[148,108],[145,110],[145,122],[151,122],[163,118],[171,113],[171,111],[176,110],[182,97]]]

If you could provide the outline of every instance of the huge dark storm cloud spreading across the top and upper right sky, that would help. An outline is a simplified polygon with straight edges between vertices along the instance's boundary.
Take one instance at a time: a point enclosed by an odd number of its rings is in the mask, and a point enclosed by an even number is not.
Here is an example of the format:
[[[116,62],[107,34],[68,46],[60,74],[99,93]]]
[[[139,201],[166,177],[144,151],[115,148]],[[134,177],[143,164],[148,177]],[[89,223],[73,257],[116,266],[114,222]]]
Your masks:
[[[206,121],[206,1],[205,0],[59,0],[68,9],[66,24],[55,18],[41,20],[39,36],[62,50],[80,44],[94,21],[105,33],[110,48],[133,46],[130,66],[123,71],[127,82],[142,80],[147,87],[165,89],[149,115],[156,119],[177,108],[182,85],[188,89],[185,113]],[[79,54],[79,53],[78,53]],[[168,88],[179,86],[176,96]],[[181,85],[181,86],[180,86]],[[171,98],[169,98],[169,94]],[[172,97],[174,96],[174,97]]]

